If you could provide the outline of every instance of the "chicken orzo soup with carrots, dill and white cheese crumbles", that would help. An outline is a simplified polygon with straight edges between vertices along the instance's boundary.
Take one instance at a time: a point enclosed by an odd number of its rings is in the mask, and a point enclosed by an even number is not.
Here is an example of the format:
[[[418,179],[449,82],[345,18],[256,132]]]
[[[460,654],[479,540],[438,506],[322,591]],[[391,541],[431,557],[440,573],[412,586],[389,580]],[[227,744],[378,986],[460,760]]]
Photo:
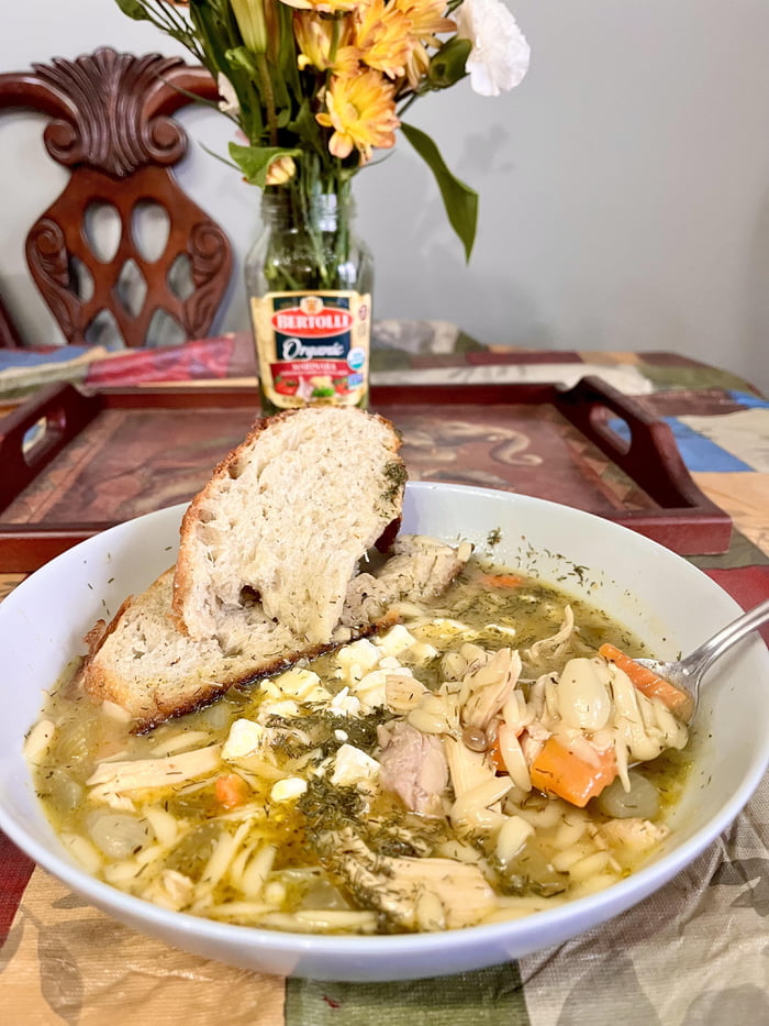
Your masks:
[[[637,639],[475,558],[399,614],[140,736],[63,681],[26,741],[63,845],[165,908],[335,934],[528,915],[655,851],[688,729]]]

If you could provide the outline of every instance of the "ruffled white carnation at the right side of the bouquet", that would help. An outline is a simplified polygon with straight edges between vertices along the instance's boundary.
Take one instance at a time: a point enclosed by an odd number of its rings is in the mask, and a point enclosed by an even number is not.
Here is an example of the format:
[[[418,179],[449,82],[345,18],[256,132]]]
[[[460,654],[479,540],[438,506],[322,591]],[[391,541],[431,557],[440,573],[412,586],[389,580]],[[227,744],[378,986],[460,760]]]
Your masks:
[[[501,0],[464,0],[457,37],[472,45],[465,67],[480,96],[514,89],[528,70],[528,43]]]

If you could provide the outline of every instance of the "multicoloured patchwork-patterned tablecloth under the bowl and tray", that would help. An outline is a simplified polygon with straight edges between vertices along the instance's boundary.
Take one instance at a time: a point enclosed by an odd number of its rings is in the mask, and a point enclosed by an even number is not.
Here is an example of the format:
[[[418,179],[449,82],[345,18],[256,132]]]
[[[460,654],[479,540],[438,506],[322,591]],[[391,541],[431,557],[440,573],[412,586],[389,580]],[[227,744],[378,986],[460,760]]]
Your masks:
[[[416,326],[416,327],[414,327]],[[248,380],[243,340],[155,354],[0,358],[0,396],[41,380]],[[56,361],[48,357],[58,356]],[[75,357],[75,362],[70,357]],[[380,328],[375,379],[606,375],[672,428],[700,487],[733,517],[727,553],[693,558],[744,606],[769,595],[769,402],[749,383],[670,353],[511,353],[452,326]],[[58,372],[52,367],[58,366]],[[4,367],[4,369],[3,369]],[[73,376],[69,376],[73,375]],[[4,389],[4,390],[3,390]],[[1,571],[1,567],[0,567]],[[18,583],[0,573],[0,595]],[[769,1023],[769,781],[729,830],[666,887],[568,944],[478,972],[393,984],[243,972],[145,938],[92,907],[3,839],[0,1022],[153,1026],[739,1026]]]

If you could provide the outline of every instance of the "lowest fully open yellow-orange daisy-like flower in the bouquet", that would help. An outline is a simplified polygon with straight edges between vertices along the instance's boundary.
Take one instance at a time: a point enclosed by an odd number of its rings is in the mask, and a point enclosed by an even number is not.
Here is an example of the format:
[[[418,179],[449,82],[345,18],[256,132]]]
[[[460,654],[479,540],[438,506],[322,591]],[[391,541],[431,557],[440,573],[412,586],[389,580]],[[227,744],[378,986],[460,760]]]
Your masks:
[[[371,159],[377,146],[389,150],[395,144],[395,115],[393,87],[369,68],[354,77],[334,76],[324,93],[326,112],[316,114],[324,128],[333,128],[328,150],[344,159],[353,150],[360,154],[360,163]]]

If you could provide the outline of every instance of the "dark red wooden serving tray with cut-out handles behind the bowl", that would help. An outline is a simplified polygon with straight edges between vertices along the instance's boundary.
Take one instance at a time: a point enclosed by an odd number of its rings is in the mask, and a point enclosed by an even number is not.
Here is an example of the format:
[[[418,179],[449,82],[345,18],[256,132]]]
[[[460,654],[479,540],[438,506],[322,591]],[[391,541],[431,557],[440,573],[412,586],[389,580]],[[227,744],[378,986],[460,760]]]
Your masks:
[[[113,523],[189,500],[257,408],[253,388],[43,390],[0,421],[0,570],[35,570]],[[379,386],[371,408],[403,433],[412,481],[560,501],[686,555],[728,549],[732,521],[696,487],[668,426],[599,378],[568,390]]]

